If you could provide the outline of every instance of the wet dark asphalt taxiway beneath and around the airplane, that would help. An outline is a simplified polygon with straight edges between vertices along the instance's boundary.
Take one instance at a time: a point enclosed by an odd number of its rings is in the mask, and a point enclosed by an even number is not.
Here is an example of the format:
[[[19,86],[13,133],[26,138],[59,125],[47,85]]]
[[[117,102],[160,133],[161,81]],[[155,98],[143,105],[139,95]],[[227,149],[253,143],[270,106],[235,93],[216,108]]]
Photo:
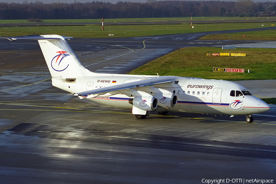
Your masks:
[[[181,47],[242,44],[188,38],[68,43],[88,69],[107,73],[127,73]],[[85,103],[53,87],[36,42],[1,40],[0,50],[0,183],[276,181],[275,105],[253,123],[243,116],[154,112],[137,120],[129,109]],[[275,80],[239,83],[276,97]]]

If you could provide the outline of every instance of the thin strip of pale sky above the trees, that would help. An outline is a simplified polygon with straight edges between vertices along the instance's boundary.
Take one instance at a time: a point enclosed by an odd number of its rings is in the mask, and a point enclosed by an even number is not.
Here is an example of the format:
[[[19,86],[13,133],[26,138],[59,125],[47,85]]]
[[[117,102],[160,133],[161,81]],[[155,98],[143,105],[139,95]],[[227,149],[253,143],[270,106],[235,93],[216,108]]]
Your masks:
[[[6,2],[6,3],[11,3],[11,2],[15,2],[15,3],[23,3],[23,2],[28,2],[28,3],[35,3],[36,0],[0,0],[0,2]],[[40,2],[43,2],[45,4],[48,3],[53,3],[53,2],[62,2],[62,3],[74,3],[75,0],[38,0]],[[92,2],[93,0],[76,0],[76,2]],[[94,0],[94,1],[99,1],[99,2],[111,2],[113,4],[117,3],[118,1],[122,1],[122,2],[146,2],[147,0]],[[159,0],[157,0],[159,1]],[[189,1],[189,0],[187,0]],[[193,1],[193,0],[190,0]],[[198,1],[198,0],[194,0],[194,1]],[[199,0],[200,1],[200,0]],[[204,0],[204,1],[209,1],[209,0]],[[237,1],[237,0],[220,0],[220,1]],[[276,2],[276,0],[253,0],[253,2]]]

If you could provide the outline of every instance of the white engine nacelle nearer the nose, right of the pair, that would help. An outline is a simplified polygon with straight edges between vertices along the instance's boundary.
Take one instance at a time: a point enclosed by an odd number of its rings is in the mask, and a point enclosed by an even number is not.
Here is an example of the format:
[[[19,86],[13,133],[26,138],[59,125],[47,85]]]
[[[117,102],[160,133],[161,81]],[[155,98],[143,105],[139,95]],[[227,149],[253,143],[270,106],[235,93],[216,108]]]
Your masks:
[[[177,96],[175,94],[155,94],[154,97],[158,99],[158,106],[164,108],[171,108],[177,104]]]

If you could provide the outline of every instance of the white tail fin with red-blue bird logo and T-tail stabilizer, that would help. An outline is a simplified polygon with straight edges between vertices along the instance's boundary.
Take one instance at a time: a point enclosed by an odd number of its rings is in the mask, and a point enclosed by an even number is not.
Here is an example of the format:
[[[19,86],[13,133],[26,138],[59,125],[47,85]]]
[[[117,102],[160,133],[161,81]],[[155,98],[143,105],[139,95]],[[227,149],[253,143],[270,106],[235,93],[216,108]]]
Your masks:
[[[82,65],[65,37],[59,35],[30,35],[8,37],[9,40],[38,40],[52,77],[84,77],[91,71]]]

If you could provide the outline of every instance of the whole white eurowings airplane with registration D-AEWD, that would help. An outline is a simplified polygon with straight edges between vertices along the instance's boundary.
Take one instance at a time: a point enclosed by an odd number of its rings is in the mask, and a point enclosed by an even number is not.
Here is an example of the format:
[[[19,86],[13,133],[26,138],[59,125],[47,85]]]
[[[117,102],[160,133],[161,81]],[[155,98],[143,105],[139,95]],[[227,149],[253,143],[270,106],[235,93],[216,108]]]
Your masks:
[[[82,65],[67,43],[66,39],[70,38],[59,35],[7,37],[11,41],[38,40],[53,86],[80,99],[132,109],[137,119],[144,119],[150,111],[156,111],[159,114],[246,115],[246,122],[252,122],[252,114],[271,109],[245,87],[231,81],[92,72]]]

